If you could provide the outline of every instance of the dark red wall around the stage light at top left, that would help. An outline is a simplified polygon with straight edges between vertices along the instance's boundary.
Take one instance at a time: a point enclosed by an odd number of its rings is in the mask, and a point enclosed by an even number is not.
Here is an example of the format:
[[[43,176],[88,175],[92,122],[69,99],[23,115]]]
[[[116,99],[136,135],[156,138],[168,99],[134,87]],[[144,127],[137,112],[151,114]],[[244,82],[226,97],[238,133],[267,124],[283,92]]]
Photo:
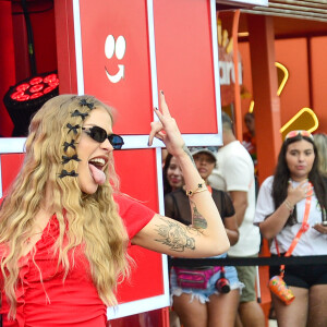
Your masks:
[[[27,1],[34,35],[37,73],[57,69],[55,10],[52,1]],[[13,124],[2,102],[10,86],[29,77],[27,34],[22,7],[0,0],[0,135],[10,137]]]

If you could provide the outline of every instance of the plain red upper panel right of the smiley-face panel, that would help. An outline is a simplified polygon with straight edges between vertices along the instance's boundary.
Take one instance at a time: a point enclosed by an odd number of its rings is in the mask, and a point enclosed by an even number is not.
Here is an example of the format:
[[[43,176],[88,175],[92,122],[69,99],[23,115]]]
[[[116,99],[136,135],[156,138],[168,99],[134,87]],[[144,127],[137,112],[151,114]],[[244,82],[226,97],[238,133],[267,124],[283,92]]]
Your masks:
[[[209,5],[154,1],[158,86],[182,133],[217,133]]]

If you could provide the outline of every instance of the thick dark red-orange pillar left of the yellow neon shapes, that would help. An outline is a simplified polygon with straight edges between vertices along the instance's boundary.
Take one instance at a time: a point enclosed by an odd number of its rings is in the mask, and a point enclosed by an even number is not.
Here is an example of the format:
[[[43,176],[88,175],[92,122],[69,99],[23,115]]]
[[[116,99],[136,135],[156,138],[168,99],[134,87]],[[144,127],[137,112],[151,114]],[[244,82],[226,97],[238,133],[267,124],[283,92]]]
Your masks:
[[[258,178],[262,183],[265,178],[274,173],[281,146],[274,21],[272,17],[253,15],[249,17],[247,26],[255,101]]]

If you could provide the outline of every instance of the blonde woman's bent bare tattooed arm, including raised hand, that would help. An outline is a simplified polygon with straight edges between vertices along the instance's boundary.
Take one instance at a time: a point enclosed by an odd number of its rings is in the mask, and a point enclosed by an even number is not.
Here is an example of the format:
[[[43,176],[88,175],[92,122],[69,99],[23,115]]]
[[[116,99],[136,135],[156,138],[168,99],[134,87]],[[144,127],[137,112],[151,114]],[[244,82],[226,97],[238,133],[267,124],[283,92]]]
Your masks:
[[[155,215],[133,238],[132,243],[174,256],[203,257],[221,254],[230,246],[225,227],[211,194],[206,190],[178,125],[170,116],[164,94],[160,94],[160,108],[161,111],[155,109],[159,121],[152,123],[149,145],[154,137],[161,140],[167,150],[179,161],[185,189],[194,191],[189,197],[193,225],[185,227],[168,217]]]

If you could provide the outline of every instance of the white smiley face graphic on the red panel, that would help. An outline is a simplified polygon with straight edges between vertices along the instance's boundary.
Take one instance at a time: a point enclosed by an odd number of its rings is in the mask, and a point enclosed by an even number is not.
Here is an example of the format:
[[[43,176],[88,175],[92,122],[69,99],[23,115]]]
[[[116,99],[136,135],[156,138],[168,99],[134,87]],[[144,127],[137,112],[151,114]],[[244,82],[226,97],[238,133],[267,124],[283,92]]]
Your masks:
[[[111,59],[113,55],[116,55],[118,60],[124,58],[126,51],[126,40],[125,38],[120,35],[117,40],[112,35],[108,35],[105,43],[105,55],[108,59]],[[111,83],[118,83],[121,78],[124,77],[124,65],[118,64],[118,73],[114,75],[109,74],[108,69],[105,66],[105,71],[107,74],[108,80]]]

